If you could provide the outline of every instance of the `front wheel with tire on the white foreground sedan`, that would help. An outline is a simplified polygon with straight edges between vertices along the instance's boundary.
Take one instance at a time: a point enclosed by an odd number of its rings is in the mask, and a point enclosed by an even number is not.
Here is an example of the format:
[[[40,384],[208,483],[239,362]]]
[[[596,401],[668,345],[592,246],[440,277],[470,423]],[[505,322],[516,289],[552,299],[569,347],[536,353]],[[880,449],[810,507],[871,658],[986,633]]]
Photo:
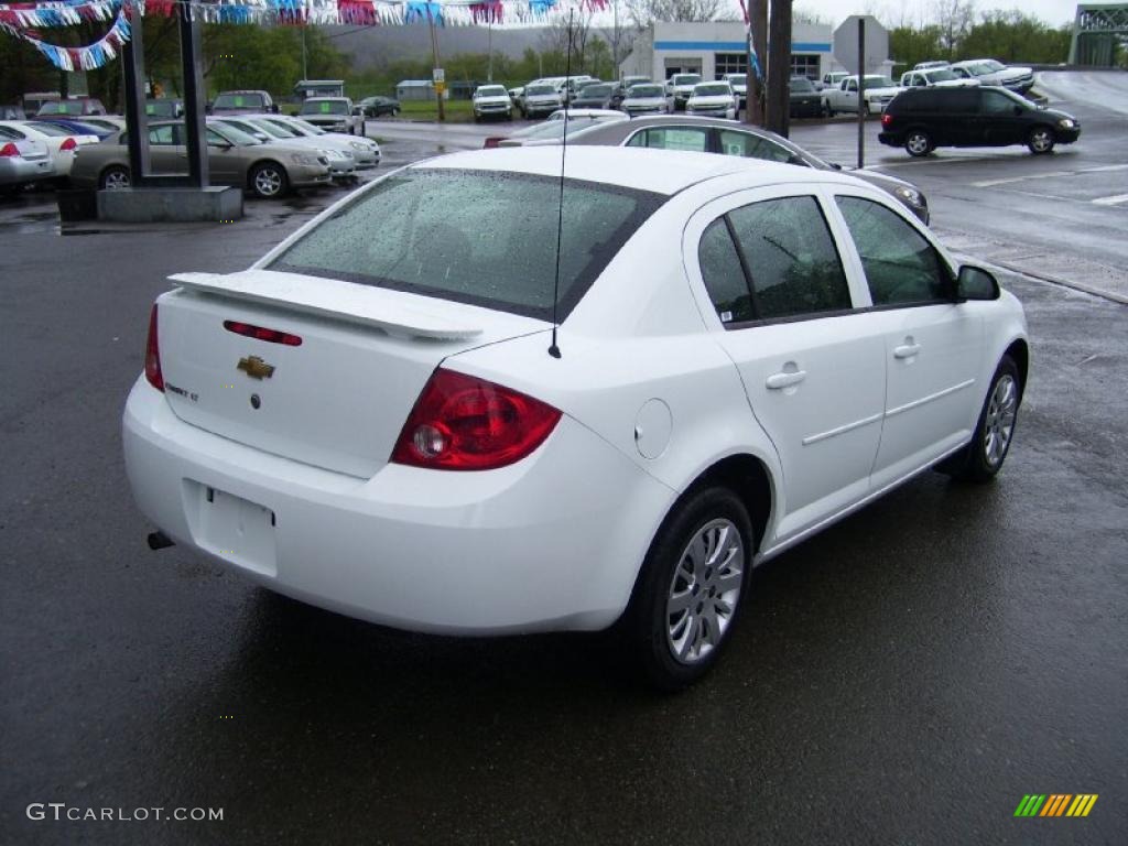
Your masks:
[[[1005,408],[1007,403],[1011,404],[1008,414]],[[1010,355],[1004,355],[992,377],[971,441],[938,469],[961,482],[982,483],[995,478],[1011,450],[1021,403],[1019,365]],[[1001,443],[998,439],[1002,439]]]

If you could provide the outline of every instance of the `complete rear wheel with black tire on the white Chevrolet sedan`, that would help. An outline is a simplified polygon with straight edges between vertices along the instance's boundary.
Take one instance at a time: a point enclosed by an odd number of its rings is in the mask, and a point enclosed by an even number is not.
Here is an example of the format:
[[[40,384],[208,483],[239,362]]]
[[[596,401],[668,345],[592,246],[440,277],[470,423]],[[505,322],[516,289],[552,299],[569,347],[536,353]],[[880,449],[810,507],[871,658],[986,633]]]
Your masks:
[[[733,529],[737,536],[731,534]],[[695,561],[695,539],[706,534],[723,538],[733,555],[731,562],[713,569],[707,559]],[[748,591],[755,541],[748,511],[725,487],[691,493],[667,515],[646,554],[624,616],[632,658],[651,685],[660,690],[679,690],[716,663],[731,640]],[[678,591],[679,585],[685,589]],[[676,594],[689,602],[686,609],[671,611]],[[675,631],[681,632],[681,656],[676,653],[679,646]],[[700,642],[702,633],[711,643]]]

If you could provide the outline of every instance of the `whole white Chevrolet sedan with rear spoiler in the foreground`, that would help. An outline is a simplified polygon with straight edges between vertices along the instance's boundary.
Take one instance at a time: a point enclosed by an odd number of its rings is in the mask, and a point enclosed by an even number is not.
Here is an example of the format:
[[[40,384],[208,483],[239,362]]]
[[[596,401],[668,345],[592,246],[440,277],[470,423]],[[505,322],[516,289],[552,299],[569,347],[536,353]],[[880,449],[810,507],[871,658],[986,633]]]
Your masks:
[[[889,194],[707,153],[434,158],[171,282],[123,420],[150,546],[406,629],[622,620],[664,688],[755,564],[992,478],[1026,374],[1019,301]]]

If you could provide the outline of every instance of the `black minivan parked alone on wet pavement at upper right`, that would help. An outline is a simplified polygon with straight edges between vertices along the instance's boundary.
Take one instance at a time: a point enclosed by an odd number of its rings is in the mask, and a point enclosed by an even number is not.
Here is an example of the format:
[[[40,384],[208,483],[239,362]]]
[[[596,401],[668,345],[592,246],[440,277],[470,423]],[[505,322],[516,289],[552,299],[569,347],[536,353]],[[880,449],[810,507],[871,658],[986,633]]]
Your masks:
[[[1036,106],[994,86],[910,88],[898,94],[881,115],[878,140],[909,156],[927,156],[936,147],[1025,144],[1045,153],[1081,135],[1073,115]]]

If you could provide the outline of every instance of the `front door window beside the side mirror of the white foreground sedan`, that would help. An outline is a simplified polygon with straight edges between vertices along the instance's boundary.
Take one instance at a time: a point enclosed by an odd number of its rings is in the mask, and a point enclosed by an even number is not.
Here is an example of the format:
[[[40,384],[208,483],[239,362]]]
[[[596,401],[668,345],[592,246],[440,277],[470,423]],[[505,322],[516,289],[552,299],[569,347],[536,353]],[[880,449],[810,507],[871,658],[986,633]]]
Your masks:
[[[924,236],[880,203],[853,196],[837,201],[874,306],[950,301],[948,273]]]

